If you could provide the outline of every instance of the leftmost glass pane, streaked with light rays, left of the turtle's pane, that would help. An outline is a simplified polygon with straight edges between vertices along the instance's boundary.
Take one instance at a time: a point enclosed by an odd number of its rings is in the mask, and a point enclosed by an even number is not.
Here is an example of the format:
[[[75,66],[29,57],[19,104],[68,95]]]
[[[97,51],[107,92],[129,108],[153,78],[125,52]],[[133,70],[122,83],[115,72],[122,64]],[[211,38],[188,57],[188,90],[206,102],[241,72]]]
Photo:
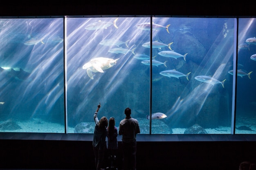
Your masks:
[[[63,18],[0,19],[0,132],[65,132]]]

